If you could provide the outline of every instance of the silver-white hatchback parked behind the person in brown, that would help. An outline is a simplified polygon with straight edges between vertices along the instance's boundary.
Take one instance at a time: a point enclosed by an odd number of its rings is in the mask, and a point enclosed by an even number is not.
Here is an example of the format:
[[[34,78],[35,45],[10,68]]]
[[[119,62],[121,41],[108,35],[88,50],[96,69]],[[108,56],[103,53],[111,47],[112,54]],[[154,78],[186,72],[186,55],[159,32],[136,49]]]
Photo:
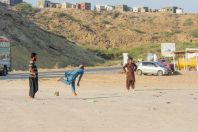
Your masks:
[[[169,75],[171,71],[157,62],[140,62],[137,68],[137,74],[152,74],[152,75]]]

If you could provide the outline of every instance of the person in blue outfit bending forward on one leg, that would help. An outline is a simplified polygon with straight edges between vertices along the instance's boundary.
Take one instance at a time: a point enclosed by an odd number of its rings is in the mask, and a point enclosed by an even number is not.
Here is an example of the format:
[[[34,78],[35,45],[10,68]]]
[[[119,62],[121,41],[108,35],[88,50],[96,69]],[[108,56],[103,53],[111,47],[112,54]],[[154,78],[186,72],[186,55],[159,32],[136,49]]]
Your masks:
[[[66,80],[63,80],[64,83],[66,83],[67,85],[71,85],[72,87],[72,92],[74,94],[74,96],[77,96],[76,93],[76,78],[78,78],[78,82],[77,82],[77,86],[80,86],[80,81],[83,77],[84,74],[84,65],[80,65],[78,69],[73,70],[73,71],[66,71],[65,72],[65,78]]]

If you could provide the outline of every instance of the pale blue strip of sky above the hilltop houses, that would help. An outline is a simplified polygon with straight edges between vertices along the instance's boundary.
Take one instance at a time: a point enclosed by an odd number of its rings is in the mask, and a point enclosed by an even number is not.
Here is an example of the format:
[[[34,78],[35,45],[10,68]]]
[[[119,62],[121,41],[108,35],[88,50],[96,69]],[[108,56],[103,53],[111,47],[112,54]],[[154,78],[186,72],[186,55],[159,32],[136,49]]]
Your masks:
[[[24,0],[36,5],[37,0]],[[160,9],[165,6],[178,6],[185,10],[185,12],[198,13],[198,0],[51,0],[52,2],[90,2],[92,5],[116,5],[127,4],[130,7],[148,6],[152,9]]]

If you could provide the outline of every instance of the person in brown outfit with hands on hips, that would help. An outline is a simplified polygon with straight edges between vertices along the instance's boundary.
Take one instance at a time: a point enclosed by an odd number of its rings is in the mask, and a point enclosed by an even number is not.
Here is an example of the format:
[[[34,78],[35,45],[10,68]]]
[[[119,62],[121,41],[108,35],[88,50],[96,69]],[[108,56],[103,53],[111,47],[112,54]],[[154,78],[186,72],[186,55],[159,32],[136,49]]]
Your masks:
[[[127,64],[123,67],[126,73],[126,88],[129,91],[130,87],[135,90],[135,71],[137,70],[137,65],[133,62],[132,58],[128,59]]]

